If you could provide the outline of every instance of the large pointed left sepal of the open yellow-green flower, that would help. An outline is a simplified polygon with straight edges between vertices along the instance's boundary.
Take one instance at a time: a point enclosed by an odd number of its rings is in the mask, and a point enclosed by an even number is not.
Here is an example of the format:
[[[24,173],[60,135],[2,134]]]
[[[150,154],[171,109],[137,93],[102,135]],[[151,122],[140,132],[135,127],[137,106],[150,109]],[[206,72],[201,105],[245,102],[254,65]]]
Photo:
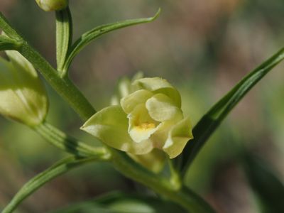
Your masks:
[[[82,130],[99,138],[108,146],[142,155],[152,151],[151,141],[135,143],[131,140],[128,129],[128,119],[120,106],[110,106],[94,114],[82,127]]]

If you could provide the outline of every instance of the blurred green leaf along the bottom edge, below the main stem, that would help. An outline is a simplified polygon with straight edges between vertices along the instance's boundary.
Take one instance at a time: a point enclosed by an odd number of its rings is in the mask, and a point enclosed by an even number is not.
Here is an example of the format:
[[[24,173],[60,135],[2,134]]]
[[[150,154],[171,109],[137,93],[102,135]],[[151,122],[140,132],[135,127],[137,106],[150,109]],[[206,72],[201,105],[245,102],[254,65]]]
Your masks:
[[[58,209],[53,213],[102,212],[102,213],[171,213],[186,212],[172,202],[157,197],[127,195],[123,192],[111,192],[94,200],[79,202]]]

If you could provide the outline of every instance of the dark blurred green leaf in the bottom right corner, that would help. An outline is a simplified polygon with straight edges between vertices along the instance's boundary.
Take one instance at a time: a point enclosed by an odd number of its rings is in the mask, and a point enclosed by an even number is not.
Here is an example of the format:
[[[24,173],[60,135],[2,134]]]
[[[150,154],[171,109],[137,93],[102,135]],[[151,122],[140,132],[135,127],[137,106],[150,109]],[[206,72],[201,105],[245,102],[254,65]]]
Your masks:
[[[263,160],[251,155],[244,159],[244,170],[253,192],[259,200],[261,212],[282,213],[284,185]]]

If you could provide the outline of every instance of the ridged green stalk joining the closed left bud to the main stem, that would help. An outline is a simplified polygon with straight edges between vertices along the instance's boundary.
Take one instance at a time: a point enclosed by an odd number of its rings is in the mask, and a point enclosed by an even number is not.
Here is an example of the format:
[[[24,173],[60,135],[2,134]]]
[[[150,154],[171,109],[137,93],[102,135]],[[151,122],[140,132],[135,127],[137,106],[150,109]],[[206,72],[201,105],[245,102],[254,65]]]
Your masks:
[[[39,124],[38,126],[33,127],[33,129],[54,146],[73,155],[81,157],[90,157],[96,155],[101,156],[106,160],[110,157],[107,148],[88,146],[86,143],[82,143],[77,141],[75,138],[67,136],[66,133],[60,131],[59,129],[55,128],[55,126],[52,126],[47,122]]]

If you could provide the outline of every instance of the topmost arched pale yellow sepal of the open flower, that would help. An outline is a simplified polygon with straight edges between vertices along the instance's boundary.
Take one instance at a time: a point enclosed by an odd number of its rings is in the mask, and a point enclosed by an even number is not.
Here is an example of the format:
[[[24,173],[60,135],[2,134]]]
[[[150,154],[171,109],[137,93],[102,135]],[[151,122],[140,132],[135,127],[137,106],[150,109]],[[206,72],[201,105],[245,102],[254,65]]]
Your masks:
[[[145,77],[133,82],[133,86],[149,90],[155,94],[163,93],[173,99],[176,107],[181,107],[180,93],[168,81],[160,77]]]

